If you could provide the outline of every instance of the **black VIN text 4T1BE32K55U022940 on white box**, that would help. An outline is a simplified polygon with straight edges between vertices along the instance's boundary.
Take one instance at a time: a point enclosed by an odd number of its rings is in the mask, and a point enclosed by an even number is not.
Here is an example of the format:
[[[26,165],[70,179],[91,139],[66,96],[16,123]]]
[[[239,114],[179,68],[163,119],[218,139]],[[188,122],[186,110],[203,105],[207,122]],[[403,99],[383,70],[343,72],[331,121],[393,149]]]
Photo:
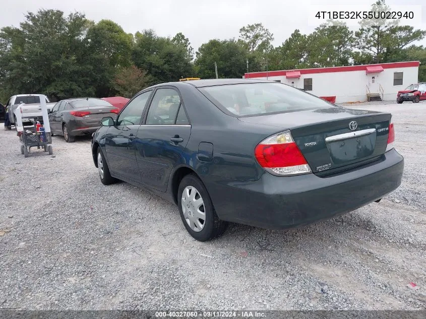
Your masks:
[[[318,19],[414,19],[413,11],[318,11]]]

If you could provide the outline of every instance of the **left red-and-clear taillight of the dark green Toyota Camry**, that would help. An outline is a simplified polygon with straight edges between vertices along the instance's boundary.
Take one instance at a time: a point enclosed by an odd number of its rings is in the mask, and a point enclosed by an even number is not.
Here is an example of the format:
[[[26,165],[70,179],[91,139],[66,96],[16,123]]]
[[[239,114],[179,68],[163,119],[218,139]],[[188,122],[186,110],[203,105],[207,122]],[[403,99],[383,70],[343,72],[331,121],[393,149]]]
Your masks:
[[[263,168],[276,175],[311,172],[290,131],[273,135],[259,143],[255,148],[255,157]]]

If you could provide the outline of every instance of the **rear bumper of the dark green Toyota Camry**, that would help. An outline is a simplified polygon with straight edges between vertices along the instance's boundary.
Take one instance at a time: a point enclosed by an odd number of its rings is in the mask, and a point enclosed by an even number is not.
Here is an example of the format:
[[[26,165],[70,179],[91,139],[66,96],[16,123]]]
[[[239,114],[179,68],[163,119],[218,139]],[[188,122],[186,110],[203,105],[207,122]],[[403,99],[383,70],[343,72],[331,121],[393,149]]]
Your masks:
[[[373,163],[331,177],[314,174],[257,181],[204,176],[220,219],[267,229],[308,225],[351,212],[401,183],[404,159],[395,150]]]

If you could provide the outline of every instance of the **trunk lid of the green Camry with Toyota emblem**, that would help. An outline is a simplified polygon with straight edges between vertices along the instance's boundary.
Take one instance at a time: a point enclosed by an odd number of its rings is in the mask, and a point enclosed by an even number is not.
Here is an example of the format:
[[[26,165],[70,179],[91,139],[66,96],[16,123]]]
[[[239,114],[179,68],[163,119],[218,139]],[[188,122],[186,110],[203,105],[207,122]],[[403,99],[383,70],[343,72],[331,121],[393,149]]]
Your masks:
[[[289,129],[313,173],[320,176],[362,165],[382,155],[391,114],[332,107],[240,120]]]

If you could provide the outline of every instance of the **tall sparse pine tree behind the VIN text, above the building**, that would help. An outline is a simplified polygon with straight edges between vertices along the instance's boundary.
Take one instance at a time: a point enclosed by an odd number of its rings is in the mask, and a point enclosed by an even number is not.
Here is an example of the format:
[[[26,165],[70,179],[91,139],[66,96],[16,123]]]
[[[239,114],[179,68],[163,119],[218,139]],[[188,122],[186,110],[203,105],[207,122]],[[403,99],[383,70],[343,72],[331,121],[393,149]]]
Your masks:
[[[385,0],[379,0],[372,5],[371,11],[390,11],[390,8]],[[426,31],[400,26],[399,20],[363,19],[359,25],[359,30],[355,32],[356,46],[364,56],[370,55],[370,62],[375,63],[384,62],[386,52],[402,49],[426,36]]]

